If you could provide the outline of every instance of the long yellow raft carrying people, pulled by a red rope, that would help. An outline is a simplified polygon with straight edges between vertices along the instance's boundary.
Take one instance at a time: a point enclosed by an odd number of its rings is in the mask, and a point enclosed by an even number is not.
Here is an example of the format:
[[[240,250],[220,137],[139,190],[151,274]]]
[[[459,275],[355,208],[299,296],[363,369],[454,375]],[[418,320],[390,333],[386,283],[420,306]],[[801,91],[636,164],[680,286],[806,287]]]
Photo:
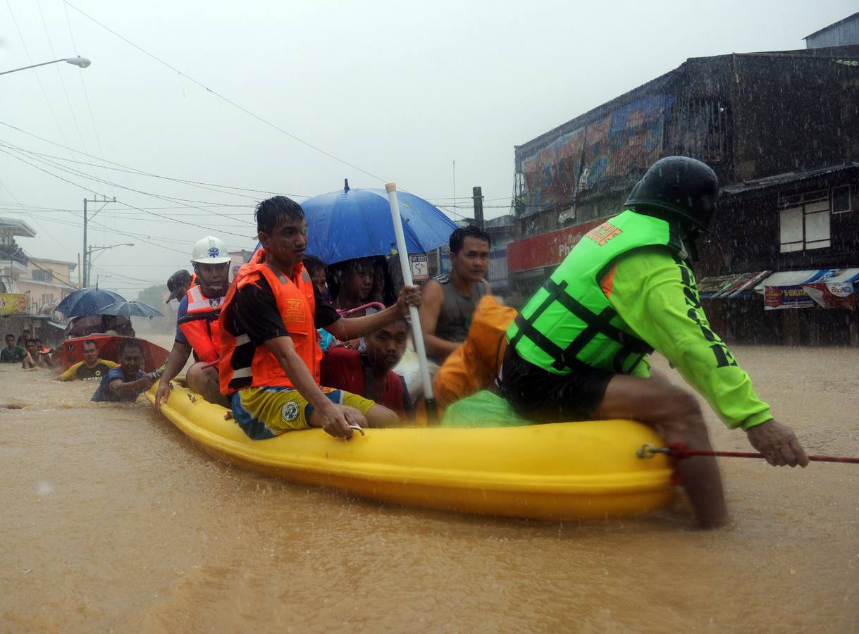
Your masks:
[[[146,397],[155,401],[157,383]],[[308,485],[430,509],[537,520],[636,515],[672,495],[671,466],[637,457],[653,430],[628,420],[492,429],[322,430],[250,440],[220,405],[174,382],[161,412],[205,452]]]

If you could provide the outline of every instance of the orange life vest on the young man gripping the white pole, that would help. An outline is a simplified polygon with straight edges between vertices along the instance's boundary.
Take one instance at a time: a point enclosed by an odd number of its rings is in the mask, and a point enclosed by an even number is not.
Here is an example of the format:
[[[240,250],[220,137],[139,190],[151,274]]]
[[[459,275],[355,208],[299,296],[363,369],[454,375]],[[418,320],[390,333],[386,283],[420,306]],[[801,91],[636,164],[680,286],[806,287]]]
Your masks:
[[[235,337],[223,321],[235,294],[247,284],[257,283],[260,277],[265,277],[271,286],[277,301],[277,312],[289,331],[295,351],[314,375],[316,385],[319,385],[322,350],[319,332],[314,326],[314,285],[304,265],[295,266],[292,277],[286,277],[283,272],[265,264],[265,250],[260,248],[253,254],[251,261],[235,274],[235,280],[222,304],[221,363],[218,363],[221,393],[234,393],[242,387],[295,387],[265,344],[254,346],[244,333]]]

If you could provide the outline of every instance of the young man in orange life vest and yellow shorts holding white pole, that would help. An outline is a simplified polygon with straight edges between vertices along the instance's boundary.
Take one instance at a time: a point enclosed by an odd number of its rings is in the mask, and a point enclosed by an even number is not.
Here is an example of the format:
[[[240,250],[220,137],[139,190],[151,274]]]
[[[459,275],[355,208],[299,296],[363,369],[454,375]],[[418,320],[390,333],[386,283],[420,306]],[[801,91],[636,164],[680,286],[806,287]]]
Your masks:
[[[308,225],[301,205],[275,196],[255,216],[262,248],[239,269],[219,319],[221,392],[230,395],[235,421],[254,439],[308,427],[350,438],[353,426],[398,424],[372,400],[320,386],[316,329],[343,341],[362,337],[419,306],[420,290],[406,286],[391,308],[343,319],[302,265]]]

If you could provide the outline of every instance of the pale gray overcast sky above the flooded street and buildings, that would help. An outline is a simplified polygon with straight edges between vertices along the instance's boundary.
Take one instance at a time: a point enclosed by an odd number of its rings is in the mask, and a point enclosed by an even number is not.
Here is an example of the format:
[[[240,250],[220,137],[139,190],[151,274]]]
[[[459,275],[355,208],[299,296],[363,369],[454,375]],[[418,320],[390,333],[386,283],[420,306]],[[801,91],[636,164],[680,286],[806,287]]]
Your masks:
[[[497,216],[514,145],[686,58],[804,48],[855,11],[855,0],[3,0],[0,71],[78,54],[92,65],[0,76],[0,216],[38,232],[18,239],[30,255],[76,261],[83,198],[115,196],[124,204],[95,216],[89,244],[135,246],[100,252],[92,278],[129,299],[190,268],[204,235],[253,247],[253,204],[270,192],[301,201],[344,178],[395,180],[469,216],[479,185]]]

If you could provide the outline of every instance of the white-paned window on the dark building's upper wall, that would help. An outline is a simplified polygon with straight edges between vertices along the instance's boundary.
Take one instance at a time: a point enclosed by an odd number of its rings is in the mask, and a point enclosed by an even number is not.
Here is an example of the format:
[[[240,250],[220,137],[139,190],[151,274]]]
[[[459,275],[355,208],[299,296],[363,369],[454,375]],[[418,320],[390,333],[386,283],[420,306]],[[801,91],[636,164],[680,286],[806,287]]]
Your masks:
[[[830,190],[778,199],[781,253],[830,247]]]

